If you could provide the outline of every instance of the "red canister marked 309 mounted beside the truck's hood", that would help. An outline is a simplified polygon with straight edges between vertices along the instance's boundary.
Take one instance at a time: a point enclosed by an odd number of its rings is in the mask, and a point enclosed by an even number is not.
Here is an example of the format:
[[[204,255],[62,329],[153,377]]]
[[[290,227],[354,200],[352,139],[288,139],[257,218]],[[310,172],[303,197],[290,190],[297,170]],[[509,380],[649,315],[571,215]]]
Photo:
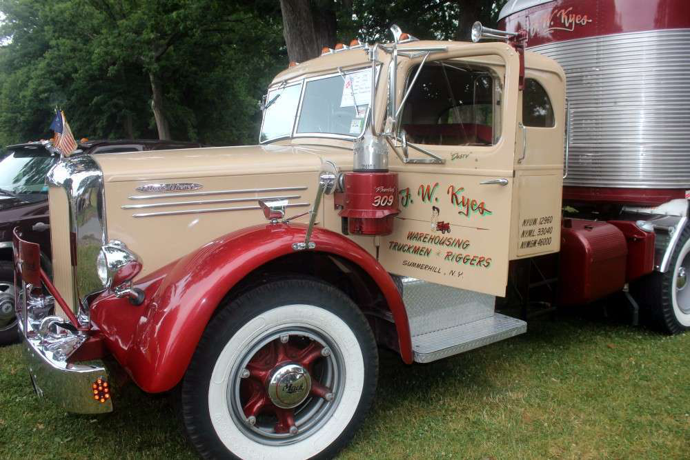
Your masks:
[[[346,172],[340,203],[351,234],[384,235],[393,232],[397,208],[395,172]]]

